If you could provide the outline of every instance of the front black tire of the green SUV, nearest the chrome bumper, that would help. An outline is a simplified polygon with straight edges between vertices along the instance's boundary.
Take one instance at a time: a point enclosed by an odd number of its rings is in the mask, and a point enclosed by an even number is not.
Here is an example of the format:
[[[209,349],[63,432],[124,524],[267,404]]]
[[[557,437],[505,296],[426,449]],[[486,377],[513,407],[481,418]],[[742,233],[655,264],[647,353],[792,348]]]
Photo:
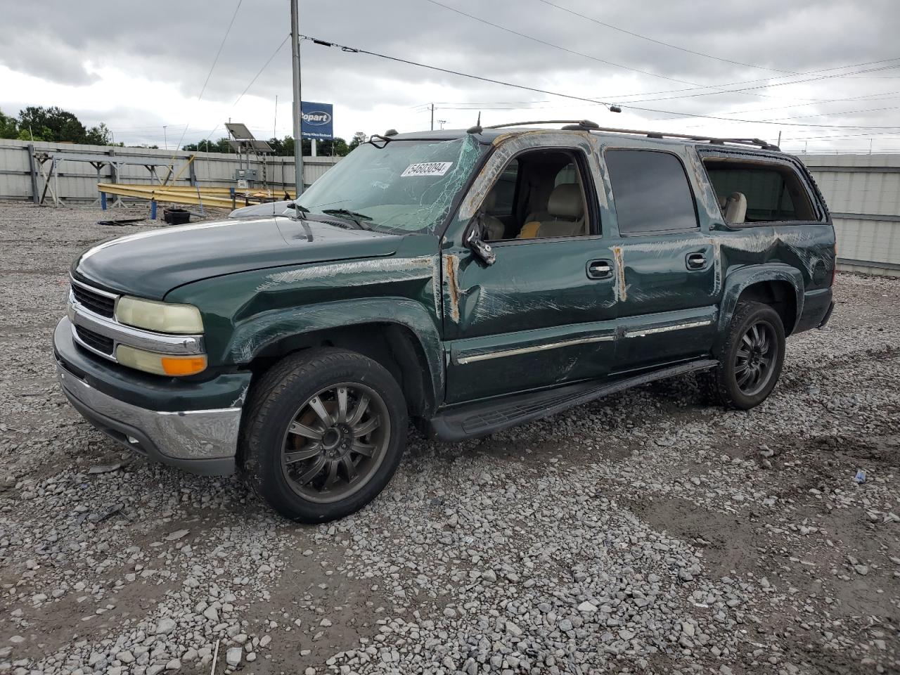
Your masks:
[[[338,404],[338,388],[343,390],[342,406]],[[333,401],[327,401],[327,394],[323,393],[330,391],[335,392]],[[348,402],[347,392],[351,392],[351,398],[354,392],[358,394],[353,415],[348,408],[354,401]],[[313,399],[317,405],[313,405]],[[357,419],[358,427],[351,428],[348,425],[353,424],[352,418],[356,417],[358,409],[364,407],[360,405],[364,399],[367,411],[363,414],[368,419],[365,422]],[[307,424],[301,417],[309,415],[310,410],[329,412],[326,406],[331,410],[327,417],[340,418],[338,407],[341,407],[342,422],[346,421],[343,427],[334,421],[333,436],[329,436],[332,431],[325,418],[312,417]],[[374,430],[366,436],[356,437],[356,430],[372,426],[373,419]],[[391,481],[406,446],[407,422],[406,401],[400,385],[371,358],[330,347],[285,356],[251,388],[241,424],[242,471],[257,494],[285,518],[302,523],[344,518],[374,500]],[[295,428],[301,429],[302,433],[293,430]],[[306,436],[311,430],[320,437]],[[374,439],[376,433],[380,435],[378,439],[368,440]],[[327,449],[335,438],[338,438],[337,445]],[[310,445],[292,452],[297,444]],[[377,448],[377,451],[371,451],[369,456],[356,455],[357,445],[361,449]],[[319,454],[311,455],[316,446],[320,447]],[[341,449],[348,446],[351,449]],[[297,460],[296,456],[303,459]],[[287,457],[292,459],[288,461]],[[345,468],[347,458],[351,465],[354,462],[369,463],[365,481],[354,483],[360,480],[360,474],[356,474],[356,479],[347,478],[348,473],[356,470],[356,465]],[[301,484],[303,477],[322,461],[326,464],[322,465],[320,473],[315,474],[308,484]],[[295,469],[290,463],[299,464],[299,467]],[[332,465],[338,466],[337,472],[331,470]],[[297,472],[303,473],[298,475]],[[347,483],[346,496],[327,487],[329,482],[337,485],[342,479]]]

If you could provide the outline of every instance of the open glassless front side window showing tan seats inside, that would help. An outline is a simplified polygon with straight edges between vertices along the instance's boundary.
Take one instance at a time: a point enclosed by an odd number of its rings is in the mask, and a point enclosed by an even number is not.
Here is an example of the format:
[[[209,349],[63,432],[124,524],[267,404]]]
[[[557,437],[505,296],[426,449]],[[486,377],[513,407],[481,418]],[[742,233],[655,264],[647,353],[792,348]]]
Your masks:
[[[512,159],[482,211],[490,241],[586,237],[595,231],[581,162],[564,150],[533,150]]]

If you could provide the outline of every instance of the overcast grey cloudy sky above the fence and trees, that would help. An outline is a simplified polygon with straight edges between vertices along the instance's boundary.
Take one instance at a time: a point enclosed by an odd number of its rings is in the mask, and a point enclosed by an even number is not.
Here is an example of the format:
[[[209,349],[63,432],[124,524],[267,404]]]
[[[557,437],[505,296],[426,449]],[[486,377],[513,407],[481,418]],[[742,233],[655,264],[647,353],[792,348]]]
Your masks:
[[[780,130],[782,147],[791,151],[808,144],[810,152],[868,152],[870,141],[876,151],[900,151],[896,0],[436,2],[301,0],[301,32],[617,103],[623,112],[302,41],[303,98],[334,104],[338,135],[428,129],[427,106],[435,102],[435,119],[447,128],[471,126],[481,110],[484,124],[587,118],[602,126],[773,141]],[[59,105],[88,125],[105,121],[116,141],[162,147],[165,136],[169,148],[183,134],[184,143],[224,136],[221,123],[229,118],[247,123],[257,137],[290,134],[289,42],[238,101],[290,29],[287,0],[242,0],[198,101],[237,6],[237,0],[7,4],[0,110]]]

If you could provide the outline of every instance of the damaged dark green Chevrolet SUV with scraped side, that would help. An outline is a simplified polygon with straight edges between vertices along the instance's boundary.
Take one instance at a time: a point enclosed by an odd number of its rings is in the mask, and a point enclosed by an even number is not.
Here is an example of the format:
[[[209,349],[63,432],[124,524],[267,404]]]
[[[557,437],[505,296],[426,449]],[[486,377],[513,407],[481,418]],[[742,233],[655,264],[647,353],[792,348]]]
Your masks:
[[[305,522],[373,500],[410,420],[456,441],[694,371],[763,401],[833,308],[806,168],[756,139],[526,124],[389,131],[296,202],[85,251],[54,335],[68,400]]]

